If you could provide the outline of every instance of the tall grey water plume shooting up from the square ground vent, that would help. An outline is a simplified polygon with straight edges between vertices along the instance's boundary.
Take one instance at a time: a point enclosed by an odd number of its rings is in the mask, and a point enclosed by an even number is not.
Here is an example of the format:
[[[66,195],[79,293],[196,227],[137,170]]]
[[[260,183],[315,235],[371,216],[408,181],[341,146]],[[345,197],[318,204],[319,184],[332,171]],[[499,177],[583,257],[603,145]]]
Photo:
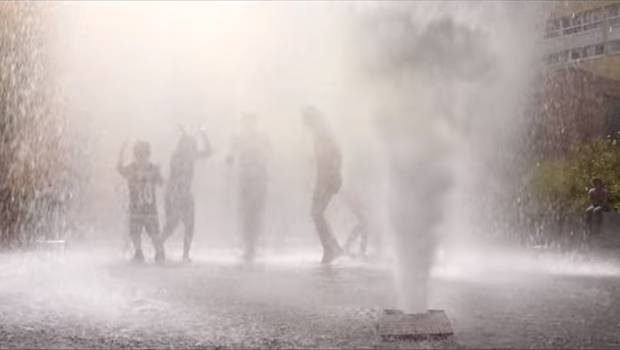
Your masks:
[[[440,238],[467,236],[506,182],[538,71],[536,6],[376,4],[361,46],[390,163],[390,216],[401,305],[428,307]],[[514,180],[514,179],[510,179]],[[480,211],[480,212],[478,212]],[[482,215],[480,215],[482,214]],[[462,239],[462,238],[461,238]]]

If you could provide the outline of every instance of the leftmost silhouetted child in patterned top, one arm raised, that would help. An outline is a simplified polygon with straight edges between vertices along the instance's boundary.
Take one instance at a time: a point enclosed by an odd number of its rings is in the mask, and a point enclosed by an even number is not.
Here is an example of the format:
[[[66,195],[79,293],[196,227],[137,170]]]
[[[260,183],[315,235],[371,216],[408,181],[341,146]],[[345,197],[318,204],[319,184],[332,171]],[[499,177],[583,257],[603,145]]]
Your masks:
[[[163,184],[159,167],[149,161],[150,145],[138,141],[134,146],[134,161],[125,165],[125,148],[121,147],[117,170],[127,180],[129,187],[129,234],[136,250],[134,261],[143,262],[142,231],[151,237],[155,247],[155,261],[164,260],[163,247],[159,238],[156,187]]]

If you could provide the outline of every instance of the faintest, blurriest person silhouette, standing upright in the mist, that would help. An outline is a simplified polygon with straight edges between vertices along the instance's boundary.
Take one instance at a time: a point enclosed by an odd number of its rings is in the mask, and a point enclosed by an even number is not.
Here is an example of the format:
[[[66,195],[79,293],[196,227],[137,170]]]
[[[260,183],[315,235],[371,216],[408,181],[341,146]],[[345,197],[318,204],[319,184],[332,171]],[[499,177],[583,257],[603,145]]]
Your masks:
[[[227,162],[229,165],[233,162],[237,164],[243,259],[248,262],[254,260],[257,240],[263,231],[270,155],[271,145],[267,137],[258,131],[256,116],[245,115],[242,130],[233,139]]]

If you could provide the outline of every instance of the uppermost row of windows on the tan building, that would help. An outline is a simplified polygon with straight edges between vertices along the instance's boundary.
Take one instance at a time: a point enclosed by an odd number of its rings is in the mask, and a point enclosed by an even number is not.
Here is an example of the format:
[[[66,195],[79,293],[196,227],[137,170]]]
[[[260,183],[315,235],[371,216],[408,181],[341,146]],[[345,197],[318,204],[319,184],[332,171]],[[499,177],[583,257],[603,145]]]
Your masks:
[[[610,27],[620,26],[620,3],[573,13],[571,16],[551,18],[547,20],[545,38],[600,29],[605,17]]]

